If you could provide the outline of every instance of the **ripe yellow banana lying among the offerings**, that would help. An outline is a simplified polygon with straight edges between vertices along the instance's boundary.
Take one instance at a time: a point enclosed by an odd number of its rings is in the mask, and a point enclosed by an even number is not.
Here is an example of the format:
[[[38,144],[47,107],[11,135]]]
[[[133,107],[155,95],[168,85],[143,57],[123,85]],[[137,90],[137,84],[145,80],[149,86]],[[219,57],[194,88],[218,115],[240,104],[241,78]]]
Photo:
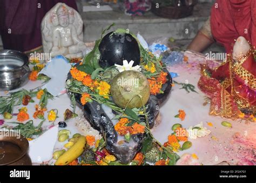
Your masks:
[[[85,143],[86,139],[81,135],[77,142],[70,147],[68,151],[60,155],[55,162],[55,165],[68,165],[70,162],[77,159],[84,152]]]

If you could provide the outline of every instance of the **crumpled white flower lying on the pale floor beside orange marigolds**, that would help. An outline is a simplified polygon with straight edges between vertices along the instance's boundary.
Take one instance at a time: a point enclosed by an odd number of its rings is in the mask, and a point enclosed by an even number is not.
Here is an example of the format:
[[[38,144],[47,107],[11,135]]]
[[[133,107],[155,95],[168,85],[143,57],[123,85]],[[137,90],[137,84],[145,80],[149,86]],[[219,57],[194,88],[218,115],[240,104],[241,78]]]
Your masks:
[[[190,139],[196,139],[197,137],[205,137],[208,134],[210,134],[211,131],[207,130],[206,127],[203,126],[203,122],[193,126],[190,126],[190,128],[188,128],[188,137]]]

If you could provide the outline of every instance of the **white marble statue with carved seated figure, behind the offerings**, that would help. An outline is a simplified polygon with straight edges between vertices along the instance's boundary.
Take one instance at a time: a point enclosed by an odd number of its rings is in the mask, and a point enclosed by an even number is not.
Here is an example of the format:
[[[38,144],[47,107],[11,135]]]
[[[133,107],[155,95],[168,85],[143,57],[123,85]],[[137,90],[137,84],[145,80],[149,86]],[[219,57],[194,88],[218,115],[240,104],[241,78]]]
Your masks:
[[[43,49],[52,57],[63,55],[79,58],[89,49],[83,42],[83,20],[79,13],[64,3],[57,3],[41,23]]]

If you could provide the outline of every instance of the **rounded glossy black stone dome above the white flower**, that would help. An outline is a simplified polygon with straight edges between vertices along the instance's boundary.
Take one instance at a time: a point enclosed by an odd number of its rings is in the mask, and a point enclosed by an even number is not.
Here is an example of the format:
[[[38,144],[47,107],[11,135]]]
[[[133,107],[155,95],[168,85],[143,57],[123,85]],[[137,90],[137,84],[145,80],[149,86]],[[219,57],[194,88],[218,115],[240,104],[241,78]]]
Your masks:
[[[107,33],[99,44],[99,52],[99,65],[102,67],[123,65],[123,60],[133,60],[133,66],[139,64],[139,45],[129,33]]]

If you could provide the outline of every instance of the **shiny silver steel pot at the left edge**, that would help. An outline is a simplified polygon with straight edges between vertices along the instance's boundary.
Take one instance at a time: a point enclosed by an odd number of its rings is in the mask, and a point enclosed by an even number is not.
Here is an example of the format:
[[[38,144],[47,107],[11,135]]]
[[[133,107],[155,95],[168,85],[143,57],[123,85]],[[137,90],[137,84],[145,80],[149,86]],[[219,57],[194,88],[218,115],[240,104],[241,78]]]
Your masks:
[[[29,79],[29,58],[15,50],[0,50],[0,90],[14,90]]]

